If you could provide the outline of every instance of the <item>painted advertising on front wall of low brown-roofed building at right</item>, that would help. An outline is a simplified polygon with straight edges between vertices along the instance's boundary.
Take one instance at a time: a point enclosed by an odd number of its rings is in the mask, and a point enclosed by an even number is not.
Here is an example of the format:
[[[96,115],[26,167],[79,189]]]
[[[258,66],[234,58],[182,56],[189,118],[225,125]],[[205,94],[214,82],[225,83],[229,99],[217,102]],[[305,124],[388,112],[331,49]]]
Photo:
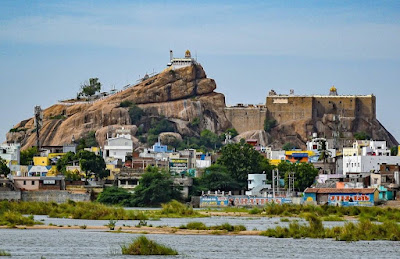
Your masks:
[[[374,194],[329,194],[329,205],[374,206]]]

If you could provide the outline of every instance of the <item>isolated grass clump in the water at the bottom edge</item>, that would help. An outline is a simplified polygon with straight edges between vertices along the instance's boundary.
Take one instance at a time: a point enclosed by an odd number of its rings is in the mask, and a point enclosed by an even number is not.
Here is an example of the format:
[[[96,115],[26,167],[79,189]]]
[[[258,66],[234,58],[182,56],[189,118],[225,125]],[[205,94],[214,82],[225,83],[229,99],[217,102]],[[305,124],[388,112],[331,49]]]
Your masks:
[[[129,245],[122,245],[123,255],[177,255],[178,252],[170,247],[157,244],[155,241],[139,236]]]

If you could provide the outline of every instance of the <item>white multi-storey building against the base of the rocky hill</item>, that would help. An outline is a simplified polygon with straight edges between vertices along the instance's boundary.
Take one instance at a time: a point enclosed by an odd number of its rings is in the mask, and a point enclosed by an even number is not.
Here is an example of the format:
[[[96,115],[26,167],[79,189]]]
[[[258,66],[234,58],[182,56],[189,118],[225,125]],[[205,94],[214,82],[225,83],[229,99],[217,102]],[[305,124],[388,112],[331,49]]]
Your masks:
[[[125,157],[128,153],[132,153],[133,141],[130,134],[117,134],[115,138],[109,138],[104,145],[104,159],[112,157],[121,159],[125,162]]]

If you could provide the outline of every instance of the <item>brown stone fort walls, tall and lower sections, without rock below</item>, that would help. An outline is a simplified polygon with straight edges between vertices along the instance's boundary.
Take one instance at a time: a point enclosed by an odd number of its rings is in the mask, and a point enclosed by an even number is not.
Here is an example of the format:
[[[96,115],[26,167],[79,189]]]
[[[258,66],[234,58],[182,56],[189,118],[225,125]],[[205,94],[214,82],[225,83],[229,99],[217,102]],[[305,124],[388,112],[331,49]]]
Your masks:
[[[374,95],[271,95],[265,106],[226,107],[225,114],[232,126],[243,133],[264,129],[264,121],[274,119],[277,123],[293,120],[321,119],[325,114],[342,118],[376,119],[376,97]]]

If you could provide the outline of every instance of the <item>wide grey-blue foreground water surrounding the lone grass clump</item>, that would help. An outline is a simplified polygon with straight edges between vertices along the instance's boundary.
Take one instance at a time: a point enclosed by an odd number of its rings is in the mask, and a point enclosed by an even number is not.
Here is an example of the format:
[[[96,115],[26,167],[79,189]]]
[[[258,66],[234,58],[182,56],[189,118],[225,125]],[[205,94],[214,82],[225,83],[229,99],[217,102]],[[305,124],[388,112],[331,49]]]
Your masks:
[[[132,258],[121,244],[137,234],[82,229],[1,229],[0,249],[12,258]],[[276,239],[262,236],[147,235],[179,256],[162,258],[399,258],[400,242],[338,242],[330,239]],[[145,256],[135,258],[159,258]]]

